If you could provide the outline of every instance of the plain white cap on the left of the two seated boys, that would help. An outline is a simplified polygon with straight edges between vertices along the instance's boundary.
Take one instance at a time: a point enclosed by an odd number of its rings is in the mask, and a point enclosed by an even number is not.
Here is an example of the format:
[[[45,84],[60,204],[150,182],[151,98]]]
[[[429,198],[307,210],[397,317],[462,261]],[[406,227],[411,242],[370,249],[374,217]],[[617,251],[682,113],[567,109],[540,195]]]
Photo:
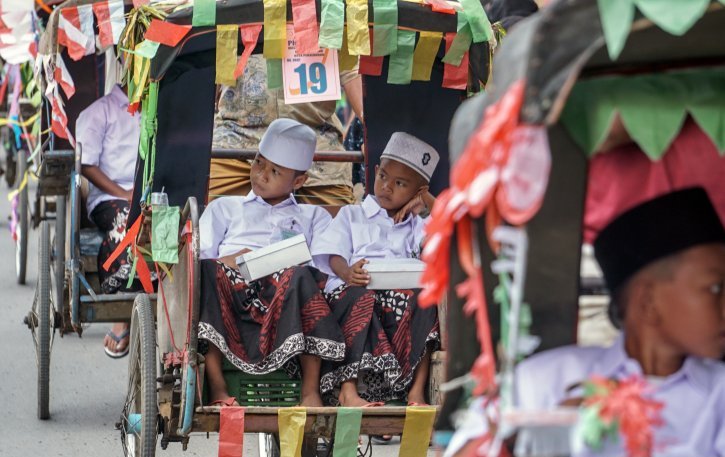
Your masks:
[[[277,165],[307,171],[316,146],[317,136],[311,128],[292,119],[276,119],[259,142],[259,153]]]

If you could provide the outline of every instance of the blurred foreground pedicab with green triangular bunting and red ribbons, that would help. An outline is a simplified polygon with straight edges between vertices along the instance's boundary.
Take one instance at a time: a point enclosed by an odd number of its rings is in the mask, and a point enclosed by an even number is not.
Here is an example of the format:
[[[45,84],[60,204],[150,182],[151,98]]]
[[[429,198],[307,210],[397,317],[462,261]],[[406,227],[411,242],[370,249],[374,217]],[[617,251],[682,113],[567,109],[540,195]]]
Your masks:
[[[493,409],[484,416],[490,453],[481,455],[510,455],[501,449],[516,432],[513,455],[571,454],[568,437],[581,430],[581,412],[524,413],[512,392],[516,363],[581,340],[582,296],[607,294],[581,268],[587,230],[697,184],[725,213],[725,45],[715,38],[725,8],[681,2],[665,13],[649,3],[552,2],[509,31],[489,91],[454,117],[451,187],[431,216],[436,243],[424,248],[422,279],[429,302],[448,291],[448,346],[458,355],[447,365],[449,391],[436,425],[442,445],[471,424],[453,413],[467,408],[472,391]],[[655,173],[653,190],[645,177]],[[653,424],[645,423],[638,432],[646,435]],[[557,430],[564,434],[547,448],[546,436]],[[653,449],[646,452],[640,455]]]

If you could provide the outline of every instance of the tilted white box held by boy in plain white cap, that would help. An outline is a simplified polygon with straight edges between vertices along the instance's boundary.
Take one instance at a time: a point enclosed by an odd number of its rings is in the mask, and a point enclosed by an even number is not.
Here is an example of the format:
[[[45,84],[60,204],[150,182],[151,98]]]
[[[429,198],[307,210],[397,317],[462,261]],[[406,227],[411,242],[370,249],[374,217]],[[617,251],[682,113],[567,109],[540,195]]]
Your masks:
[[[237,257],[245,281],[255,281],[284,268],[312,260],[305,236],[300,234]]]

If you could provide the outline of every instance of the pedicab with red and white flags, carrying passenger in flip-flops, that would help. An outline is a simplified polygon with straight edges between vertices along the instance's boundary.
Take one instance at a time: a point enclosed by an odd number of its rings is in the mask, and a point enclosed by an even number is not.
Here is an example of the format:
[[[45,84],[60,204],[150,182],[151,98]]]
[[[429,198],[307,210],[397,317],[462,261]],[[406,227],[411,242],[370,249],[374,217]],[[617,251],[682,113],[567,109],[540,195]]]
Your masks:
[[[80,337],[91,323],[128,322],[135,298],[133,293],[100,293],[97,257],[103,236],[86,214],[82,150],[75,148],[73,139],[78,115],[105,94],[105,72],[112,68],[107,64],[115,59],[109,47],[113,43],[100,37],[99,42],[105,43],[108,50],[83,55],[82,47],[80,54],[77,49],[70,52],[68,42],[59,39],[60,16],[64,11],[75,14],[78,7],[92,8],[97,3],[108,4],[70,0],[57,5],[48,17],[39,46],[36,77],[43,82],[45,95],[45,130],[37,154],[34,217],[40,225],[39,270],[36,294],[25,324],[36,347],[40,419],[50,416],[50,352],[55,332],[60,336],[76,333]],[[97,37],[87,38],[89,43],[95,43]]]

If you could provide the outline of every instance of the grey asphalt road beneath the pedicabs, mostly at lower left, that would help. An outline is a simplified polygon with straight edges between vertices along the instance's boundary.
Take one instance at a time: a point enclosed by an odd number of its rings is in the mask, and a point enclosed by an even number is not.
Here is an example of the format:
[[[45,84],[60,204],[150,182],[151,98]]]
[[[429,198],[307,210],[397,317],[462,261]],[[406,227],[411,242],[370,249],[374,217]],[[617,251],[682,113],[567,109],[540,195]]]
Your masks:
[[[0,186],[4,185],[0,184]],[[4,190],[4,189],[3,189]],[[0,456],[122,456],[115,423],[126,395],[128,359],[112,360],[103,352],[105,324],[91,325],[83,337],[56,333],[51,352],[50,419],[36,417],[35,349],[23,317],[32,305],[37,281],[38,231],[29,237],[26,285],[15,279],[15,248],[6,218],[10,204],[0,197]],[[35,191],[31,190],[31,201]],[[245,436],[245,456],[256,456],[257,435]],[[171,443],[157,455],[216,456],[217,436],[193,436],[187,452]],[[396,456],[399,446],[375,446],[376,457]],[[428,453],[430,456],[433,452]]]

